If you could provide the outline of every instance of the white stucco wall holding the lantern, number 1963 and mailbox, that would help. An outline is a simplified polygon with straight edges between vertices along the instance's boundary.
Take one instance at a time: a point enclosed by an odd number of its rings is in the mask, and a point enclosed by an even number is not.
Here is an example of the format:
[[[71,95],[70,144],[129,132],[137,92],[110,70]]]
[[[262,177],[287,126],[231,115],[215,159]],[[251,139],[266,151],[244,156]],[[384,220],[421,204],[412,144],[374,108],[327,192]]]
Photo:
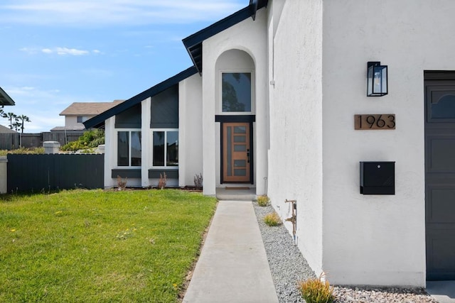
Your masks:
[[[455,70],[455,2],[323,3],[323,267],[333,282],[424,286],[423,74]],[[390,92],[368,98],[376,60]],[[396,114],[397,128],[354,131],[354,114]],[[359,194],[371,160],[396,161],[395,195]]]

